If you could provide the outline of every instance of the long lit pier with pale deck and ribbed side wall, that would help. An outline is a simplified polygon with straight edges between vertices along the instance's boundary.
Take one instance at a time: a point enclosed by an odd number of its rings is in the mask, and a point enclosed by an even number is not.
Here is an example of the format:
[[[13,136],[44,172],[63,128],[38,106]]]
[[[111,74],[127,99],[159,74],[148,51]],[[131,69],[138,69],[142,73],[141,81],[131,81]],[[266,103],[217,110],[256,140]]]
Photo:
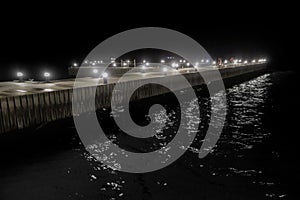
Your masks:
[[[221,69],[203,68],[203,73],[211,73],[213,70],[219,70],[222,79],[226,80],[232,77],[244,76],[254,72],[263,72],[266,70],[266,63],[247,64],[240,66],[228,66]],[[125,68],[123,71],[127,71]],[[199,73],[194,68],[178,69],[192,86],[204,84],[199,77]],[[126,81],[122,82],[122,88],[131,87],[142,79],[163,79],[163,81],[172,82],[174,79],[171,72],[164,74],[162,72],[145,71],[133,73],[126,76]],[[82,102],[95,102],[96,109],[110,106],[110,94],[114,88],[118,75],[108,78],[108,83],[103,83],[97,77],[81,77],[79,96]],[[0,134],[21,130],[24,128],[34,127],[43,123],[72,117],[72,96],[73,84],[75,79],[54,80],[51,82],[35,82],[35,81],[14,81],[0,83]],[[91,87],[96,85],[96,100],[87,99],[86,95],[91,91]],[[138,89],[132,100],[149,98],[168,92],[166,89],[157,87],[151,90]],[[92,111],[92,106],[84,106],[80,113]],[[80,114],[76,113],[76,114]]]

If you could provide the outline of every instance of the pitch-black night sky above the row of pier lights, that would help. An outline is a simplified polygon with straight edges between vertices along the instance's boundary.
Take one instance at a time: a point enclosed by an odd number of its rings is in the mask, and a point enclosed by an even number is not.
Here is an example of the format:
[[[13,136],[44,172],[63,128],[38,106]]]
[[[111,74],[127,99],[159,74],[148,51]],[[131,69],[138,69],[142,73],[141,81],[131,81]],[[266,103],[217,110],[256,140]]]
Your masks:
[[[11,79],[17,69],[35,78],[44,69],[51,69],[55,78],[65,77],[73,61],[81,61],[104,39],[144,26],[180,31],[196,39],[212,57],[265,55],[274,67],[296,67],[286,62],[287,57],[295,59],[296,55],[292,47],[296,46],[298,24],[296,13],[289,10],[292,6],[214,5],[209,7],[210,13],[188,6],[162,9],[156,4],[160,8],[156,12],[121,5],[119,9],[108,5],[92,9],[91,4],[76,9],[13,7],[0,14],[0,80]],[[283,11],[288,13],[283,15]]]

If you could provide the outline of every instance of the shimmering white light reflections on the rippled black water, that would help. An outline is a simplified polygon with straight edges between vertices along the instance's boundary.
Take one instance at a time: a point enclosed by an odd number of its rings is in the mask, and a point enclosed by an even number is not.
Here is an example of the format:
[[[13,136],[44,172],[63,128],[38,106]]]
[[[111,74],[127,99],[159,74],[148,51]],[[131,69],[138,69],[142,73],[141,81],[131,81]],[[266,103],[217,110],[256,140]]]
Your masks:
[[[229,164],[221,165],[216,164],[214,162],[205,162],[202,160],[196,160],[198,157],[193,157],[191,159],[184,159],[184,163],[186,168],[198,168],[199,170],[204,170],[206,173],[216,176],[216,177],[244,177],[252,180],[254,185],[258,185],[259,187],[268,188],[268,192],[265,193],[265,196],[268,198],[284,198],[286,194],[278,193],[275,189],[277,184],[280,184],[276,181],[265,180],[264,171],[257,167],[252,168],[251,165],[243,165],[239,164],[239,161],[243,161],[245,156],[249,151],[255,148],[257,145],[261,144],[270,136],[270,132],[263,126],[263,116],[264,112],[262,112],[262,108],[266,104],[266,99],[268,98],[268,90],[272,86],[272,82],[269,74],[265,74],[258,78],[255,78],[251,81],[233,86],[226,90],[227,95],[227,106],[228,106],[228,115],[226,118],[226,123],[223,129],[223,133],[214,147],[211,155],[209,156],[211,159],[231,159],[233,162],[229,162]],[[184,92],[182,92],[184,95]],[[211,105],[211,101],[218,101],[218,97],[220,97],[220,93],[215,94],[212,98],[203,97],[202,101],[202,109],[206,109]],[[202,119],[200,116],[194,115],[194,110],[198,106],[196,105],[197,101],[193,100],[191,102],[185,102],[186,105],[189,105],[187,109],[183,110],[186,121],[183,120],[182,123],[187,131],[187,134],[190,135],[192,132],[198,132],[201,135],[201,130],[205,129],[205,125],[202,124]],[[217,106],[211,108],[211,112],[215,113],[217,116],[220,115],[220,108],[225,105],[217,104]],[[119,113],[124,112],[124,107],[120,106],[111,113],[114,117],[118,117]],[[172,137],[168,133],[176,133],[176,129],[174,126],[176,125],[176,120],[178,119],[178,113],[176,109],[172,112],[166,113],[165,110],[161,110],[159,112],[153,113],[149,116],[155,126],[156,135],[155,138],[160,141],[160,145],[166,145],[168,142],[166,139],[168,137]],[[210,117],[210,114],[206,114],[207,118]],[[200,129],[197,130],[198,124],[200,123]],[[219,126],[220,121],[218,117],[215,121],[211,121],[213,126]],[[112,145],[112,142],[116,139],[112,136],[110,138],[112,141],[107,142],[105,144],[95,143],[90,145],[88,148],[96,149],[95,151],[101,155],[102,152],[105,151],[106,148],[109,148]],[[201,143],[201,137],[197,137],[194,140],[194,143]],[[188,151],[191,154],[199,153],[199,145],[192,146],[180,146],[179,148],[182,151]],[[153,150],[150,147],[150,150]],[[162,154],[168,154],[167,149],[157,150]],[[122,152],[119,152],[122,153]],[[123,152],[124,153],[124,152]],[[107,168],[107,166],[102,165],[100,162],[92,162],[95,159],[90,156],[88,153],[84,153],[83,156],[93,163],[93,169],[96,171],[106,170],[107,173],[118,174],[119,172],[116,170],[121,169],[116,159],[115,155],[105,155],[96,157],[99,160],[110,160],[112,163],[115,162],[115,168]],[[168,155],[171,156],[171,155]],[[280,156],[280,155],[278,155]],[[200,164],[199,164],[200,163]],[[98,177],[95,174],[90,174],[90,181],[96,180]],[[117,176],[118,177],[118,176]],[[117,199],[120,197],[126,196],[126,189],[124,189],[124,185],[126,185],[126,181],[122,179],[122,176],[116,178],[115,181],[109,181],[104,184],[100,190],[102,193],[109,193],[110,196],[113,196],[112,199]],[[161,188],[168,187],[168,183],[164,180],[157,181],[157,186]]]

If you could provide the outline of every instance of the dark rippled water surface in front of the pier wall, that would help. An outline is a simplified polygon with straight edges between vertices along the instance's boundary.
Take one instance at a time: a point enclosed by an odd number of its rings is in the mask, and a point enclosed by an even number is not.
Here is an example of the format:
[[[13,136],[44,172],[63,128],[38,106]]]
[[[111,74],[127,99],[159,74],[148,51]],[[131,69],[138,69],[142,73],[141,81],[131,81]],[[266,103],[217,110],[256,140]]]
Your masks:
[[[181,111],[190,116],[187,133],[200,122],[193,145],[183,146],[185,154],[168,167],[146,174],[124,173],[96,162],[71,119],[3,135],[0,199],[294,199],[299,180],[296,83],[293,72],[273,72],[228,88],[222,135],[204,159],[198,158],[199,146],[210,113],[218,108],[210,109],[210,99],[199,88],[201,116],[193,116],[193,101],[186,102],[190,109]],[[122,107],[113,113],[101,111],[100,123],[124,148],[158,149],[173,138],[180,121],[176,101],[170,98],[153,98],[132,108],[133,120],[143,125],[148,106],[166,105],[167,112],[150,116],[157,124],[151,142],[132,141],[118,130],[110,118],[123,112]]]

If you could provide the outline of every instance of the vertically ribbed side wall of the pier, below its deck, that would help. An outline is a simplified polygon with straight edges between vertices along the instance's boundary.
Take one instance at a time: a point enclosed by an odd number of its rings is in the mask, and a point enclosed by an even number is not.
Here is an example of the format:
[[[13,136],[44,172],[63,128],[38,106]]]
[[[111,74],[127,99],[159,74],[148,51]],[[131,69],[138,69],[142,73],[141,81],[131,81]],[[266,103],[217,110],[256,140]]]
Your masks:
[[[266,69],[265,64],[240,66],[235,68],[220,69],[223,79],[249,74],[251,72],[263,71]],[[205,71],[204,73],[211,73]],[[203,79],[197,73],[184,74],[192,86],[203,84]],[[159,82],[169,82],[176,85],[176,79],[173,75],[154,78]],[[126,81],[121,83],[121,88],[126,91],[127,88],[142,82],[143,80]],[[98,85],[97,87],[78,88],[76,93],[76,113],[93,111],[93,104],[96,109],[110,106],[110,95],[113,91],[115,83],[106,85]],[[177,84],[178,85],[178,84]],[[154,86],[147,89],[148,86],[139,88],[131,100],[139,100],[169,92],[166,88]],[[178,89],[180,85],[176,86]],[[95,99],[88,98],[96,90]],[[20,130],[27,127],[38,126],[40,124],[71,117],[72,113],[72,89],[57,90],[51,92],[41,92],[36,94],[28,94],[21,96],[10,96],[0,98],[0,134]],[[114,101],[122,101],[122,95],[117,95]]]

